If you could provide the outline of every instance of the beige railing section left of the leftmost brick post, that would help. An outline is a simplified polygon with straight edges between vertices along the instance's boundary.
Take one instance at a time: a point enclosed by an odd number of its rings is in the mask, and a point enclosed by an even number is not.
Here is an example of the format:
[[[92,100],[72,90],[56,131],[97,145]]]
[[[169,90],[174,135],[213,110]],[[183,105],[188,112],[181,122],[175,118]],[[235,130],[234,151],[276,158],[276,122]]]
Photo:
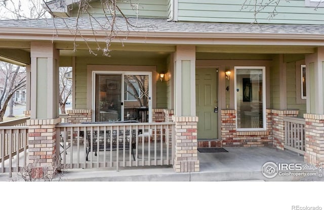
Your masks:
[[[27,132],[27,126],[0,126],[1,173],[9,172],[11,177],[12,172],[18,172],[22,167],[26,166]]]

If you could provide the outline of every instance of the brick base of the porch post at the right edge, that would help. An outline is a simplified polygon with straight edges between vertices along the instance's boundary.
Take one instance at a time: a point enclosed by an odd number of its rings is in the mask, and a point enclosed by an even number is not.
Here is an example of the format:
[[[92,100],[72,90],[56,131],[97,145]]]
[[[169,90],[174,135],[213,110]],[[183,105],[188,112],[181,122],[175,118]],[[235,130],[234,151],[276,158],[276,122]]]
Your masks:
[[[324,162],[324,115],[304,114],[306,152],[304,161],[313,165]]]

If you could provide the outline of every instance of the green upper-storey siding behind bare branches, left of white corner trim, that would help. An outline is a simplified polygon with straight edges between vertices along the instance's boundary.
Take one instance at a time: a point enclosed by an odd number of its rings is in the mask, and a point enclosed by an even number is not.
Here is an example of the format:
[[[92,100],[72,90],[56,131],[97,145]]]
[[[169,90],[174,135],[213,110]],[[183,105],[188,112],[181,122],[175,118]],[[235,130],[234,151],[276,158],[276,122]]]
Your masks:
[[[117,0],[117,6],[127,17],[167,18],[168,15],[168,0],[138,0],[132,1],[132,4],[129,1]],[[74,8],[72,16],[76,17],[78,8]],[[89,17],[87,13],[93,14],[94,17],[103,17],[105,13],[107,14],[107,9],[104,12],[102,4],[94,2],[87,12],[79,16]]]

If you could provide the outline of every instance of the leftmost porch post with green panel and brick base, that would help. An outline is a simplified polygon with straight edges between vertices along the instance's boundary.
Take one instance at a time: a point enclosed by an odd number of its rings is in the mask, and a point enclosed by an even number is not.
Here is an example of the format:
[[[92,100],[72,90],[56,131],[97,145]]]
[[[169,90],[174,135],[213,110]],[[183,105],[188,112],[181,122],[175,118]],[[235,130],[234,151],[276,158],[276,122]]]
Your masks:
[[[28,159],[34,178],[53,175],[58,118],[59,51],[52,42],[31,42],[30,115],[27,121]]]

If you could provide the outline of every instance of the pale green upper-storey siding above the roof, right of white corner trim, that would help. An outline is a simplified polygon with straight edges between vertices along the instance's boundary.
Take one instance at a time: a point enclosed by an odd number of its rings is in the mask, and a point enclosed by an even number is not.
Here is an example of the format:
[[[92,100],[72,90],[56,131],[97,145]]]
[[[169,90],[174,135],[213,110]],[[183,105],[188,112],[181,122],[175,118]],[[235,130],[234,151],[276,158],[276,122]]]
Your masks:
[[[242,6],[246,2],[245,6]],[[203,22],[255,22],[254,2],[244,0],[179,0],[179,21]],[[260,3],[261,0],[257,0]],[[264,2],[264,1],[263,1]],[[265,4],[265,3],[263,3]],[[276,14],[270,17],[274,6],[267,6],[257,16],[258,23],[277,24],[324,24],[324,8],[305,7],[305,0],[280,1],[275,8]]]

